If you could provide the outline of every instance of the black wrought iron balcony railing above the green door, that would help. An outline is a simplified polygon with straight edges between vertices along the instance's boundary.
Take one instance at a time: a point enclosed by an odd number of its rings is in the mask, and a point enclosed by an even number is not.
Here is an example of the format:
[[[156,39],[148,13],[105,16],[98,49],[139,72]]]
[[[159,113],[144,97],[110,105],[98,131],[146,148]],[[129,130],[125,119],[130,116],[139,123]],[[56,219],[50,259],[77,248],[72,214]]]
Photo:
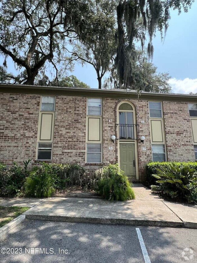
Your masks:
[[[120,140],[134,140],[135,134],[137,134],[137,124],[117,124],[119,129],[119,139]],[[136,127],[136,132],[134,132],[134,127]]]

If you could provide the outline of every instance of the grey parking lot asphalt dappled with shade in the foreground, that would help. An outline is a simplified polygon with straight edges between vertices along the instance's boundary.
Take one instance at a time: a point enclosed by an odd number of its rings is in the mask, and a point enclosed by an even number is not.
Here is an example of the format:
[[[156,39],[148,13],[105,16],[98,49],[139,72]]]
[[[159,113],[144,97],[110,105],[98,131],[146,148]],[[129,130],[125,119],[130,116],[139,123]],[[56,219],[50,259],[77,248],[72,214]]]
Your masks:
[[[195,229],[25,220],[0,240],[0,262],[194,263],[196,244]]]

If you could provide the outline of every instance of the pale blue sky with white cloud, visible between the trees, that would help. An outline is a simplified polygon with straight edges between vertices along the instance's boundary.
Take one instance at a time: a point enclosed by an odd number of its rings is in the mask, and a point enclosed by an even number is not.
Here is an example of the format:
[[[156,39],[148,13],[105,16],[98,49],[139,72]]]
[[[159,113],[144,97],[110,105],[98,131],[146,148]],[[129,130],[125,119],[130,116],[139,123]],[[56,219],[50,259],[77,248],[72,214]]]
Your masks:
[[[193,3],[188,13],[171,10],[171,19],[164,42],[159,33],[153,39],[153,63],[158,72],[168,72],[169,83],[175,93],[197,92],[197,32],[195,27],[197,1]],[[2,64],[2,59],[0,59]],[[14,71],[13,63],[8,60],[8,70]],[[97,88],[97,76],[94,68],[85,64],[75,64],[71,73],[87,83],[91,88]]]

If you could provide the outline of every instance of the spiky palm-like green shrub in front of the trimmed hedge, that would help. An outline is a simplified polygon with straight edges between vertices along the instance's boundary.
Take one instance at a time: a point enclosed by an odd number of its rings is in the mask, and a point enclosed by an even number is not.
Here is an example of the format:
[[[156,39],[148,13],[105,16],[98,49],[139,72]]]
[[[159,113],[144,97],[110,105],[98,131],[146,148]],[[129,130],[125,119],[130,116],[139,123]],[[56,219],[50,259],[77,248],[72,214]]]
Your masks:
[[[197,202],[197,171],[185,164],[169,163],[156,168],[152,175],[157,185],[151,185],[154,192],[177,201]]]

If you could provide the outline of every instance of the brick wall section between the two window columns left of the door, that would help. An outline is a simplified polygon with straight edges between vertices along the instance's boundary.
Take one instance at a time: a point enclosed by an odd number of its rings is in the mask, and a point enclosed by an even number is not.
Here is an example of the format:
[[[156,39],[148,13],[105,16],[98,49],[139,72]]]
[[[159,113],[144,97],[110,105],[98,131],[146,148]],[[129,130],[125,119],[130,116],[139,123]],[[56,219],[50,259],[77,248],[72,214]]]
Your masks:
[[[85,164],[86,98],[56,96],[53,162]]]

